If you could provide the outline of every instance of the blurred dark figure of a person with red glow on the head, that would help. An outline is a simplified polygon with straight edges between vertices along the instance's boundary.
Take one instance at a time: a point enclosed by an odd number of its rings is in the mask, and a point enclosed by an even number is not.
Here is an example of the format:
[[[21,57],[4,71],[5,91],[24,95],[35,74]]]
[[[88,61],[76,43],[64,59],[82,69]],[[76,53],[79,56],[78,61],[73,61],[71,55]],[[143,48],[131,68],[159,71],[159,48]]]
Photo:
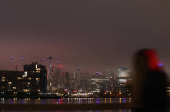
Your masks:
[[[166,111],[166,73],[156,51],[142,49],[133,60],[133,112]]]

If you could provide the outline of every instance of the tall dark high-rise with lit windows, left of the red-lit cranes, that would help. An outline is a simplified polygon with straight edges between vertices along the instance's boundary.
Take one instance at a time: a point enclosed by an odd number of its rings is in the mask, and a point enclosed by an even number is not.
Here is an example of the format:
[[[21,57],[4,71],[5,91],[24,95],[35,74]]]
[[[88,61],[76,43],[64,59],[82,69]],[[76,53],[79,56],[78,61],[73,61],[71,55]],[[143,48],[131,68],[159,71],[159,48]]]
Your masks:
[[[24,65],[24,72],[28,72],[31,81],[35,83],[34,90],[38,92],[47,92],[47,70],[46,66],[32,62],[32,64]]]

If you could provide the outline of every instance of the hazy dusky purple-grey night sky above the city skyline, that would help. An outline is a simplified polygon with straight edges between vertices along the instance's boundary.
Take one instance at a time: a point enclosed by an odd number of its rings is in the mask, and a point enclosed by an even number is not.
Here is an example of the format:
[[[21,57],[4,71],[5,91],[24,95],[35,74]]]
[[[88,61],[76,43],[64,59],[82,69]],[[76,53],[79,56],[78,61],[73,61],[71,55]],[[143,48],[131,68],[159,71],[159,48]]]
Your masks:
[[[63,68],[130,67],[156,48],[170,73],[169,0],[1,0],[0,69],[54,57]],[[13,56],[10,60],[9,56]],[[21,57],[25,57],[21,61]],[[27,58],[26,58],[27,57]]]

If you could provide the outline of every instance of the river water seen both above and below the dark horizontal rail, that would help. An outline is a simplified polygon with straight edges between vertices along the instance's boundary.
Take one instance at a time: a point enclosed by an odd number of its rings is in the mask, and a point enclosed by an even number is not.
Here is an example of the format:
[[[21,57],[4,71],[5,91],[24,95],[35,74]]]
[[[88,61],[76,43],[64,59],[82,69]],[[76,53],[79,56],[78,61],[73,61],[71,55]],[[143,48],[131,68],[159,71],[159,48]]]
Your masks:
[[[113,104],[130,103],[130,98],[61,98],[61,99],[4,99],[1,104]],[[2,111],[28,112],[28,111]],[[30,111],[29,111],[30,112]],[[48,111],[36,111],[48,112]],[[50,112],[131,112],[131,110],[96,110],[96,111],[50,111]]]

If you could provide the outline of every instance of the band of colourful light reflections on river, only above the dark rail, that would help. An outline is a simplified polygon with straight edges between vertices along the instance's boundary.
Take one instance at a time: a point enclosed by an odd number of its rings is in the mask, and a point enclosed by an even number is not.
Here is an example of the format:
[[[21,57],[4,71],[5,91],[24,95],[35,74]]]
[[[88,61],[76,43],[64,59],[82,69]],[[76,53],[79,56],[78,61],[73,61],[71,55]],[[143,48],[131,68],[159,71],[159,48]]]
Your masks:
[[[101,104],[131,103],[131,98],[4,99],[1,104]]]

